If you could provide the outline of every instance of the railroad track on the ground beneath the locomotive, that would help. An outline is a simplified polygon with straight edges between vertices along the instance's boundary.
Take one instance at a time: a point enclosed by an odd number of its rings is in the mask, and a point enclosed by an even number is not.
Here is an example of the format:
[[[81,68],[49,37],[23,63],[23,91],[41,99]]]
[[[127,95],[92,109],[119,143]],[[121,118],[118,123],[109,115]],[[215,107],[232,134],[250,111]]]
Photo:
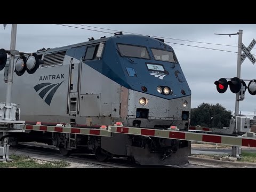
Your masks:
[[[17,147],[10,147],[11,151],[18,152],[21,155],[27,155],[43,159],[54,158],[62,161],[74,162],[74,163],[86,163],[91,167],[106,167],[106,168],[146,168],[146,167],[159,167],[159,168],[207,168],[211,166],[203,166],[197,164],[185,164],[185,165],[138,165],[128,161],[126,158],[113,158],[109,162],[97,161],[95,155],[90,154],[71,154],[70,156],[62,156],[59,153],[58,148],[54,146],[47,146],[42,143],[26,142],[19,143]]]

